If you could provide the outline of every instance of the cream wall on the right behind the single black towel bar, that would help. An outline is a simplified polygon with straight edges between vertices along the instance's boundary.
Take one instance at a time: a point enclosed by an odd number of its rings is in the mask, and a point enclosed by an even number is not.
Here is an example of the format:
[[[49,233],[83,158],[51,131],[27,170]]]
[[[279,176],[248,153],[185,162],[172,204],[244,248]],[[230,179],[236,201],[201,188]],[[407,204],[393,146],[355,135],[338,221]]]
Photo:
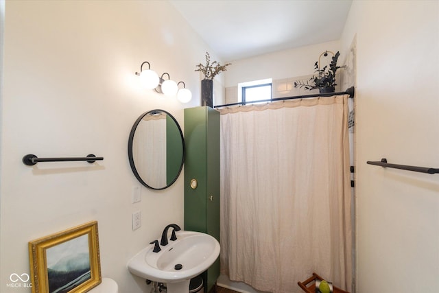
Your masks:
[[[439,175],[366,161],[439,166],[439,2],[353,1],[357,36],[357,292],[437,292]]]

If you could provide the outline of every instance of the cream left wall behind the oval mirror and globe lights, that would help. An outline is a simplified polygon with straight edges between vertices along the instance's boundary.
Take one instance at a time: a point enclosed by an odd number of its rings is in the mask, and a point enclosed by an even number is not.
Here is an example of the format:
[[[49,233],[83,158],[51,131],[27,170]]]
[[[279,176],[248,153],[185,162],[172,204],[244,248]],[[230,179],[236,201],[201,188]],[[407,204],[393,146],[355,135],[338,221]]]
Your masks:
[[[167,1],[1,1],[0,292],[11,274],[29,273],[27,243],[97,220],[102,276],[120,292],[150,292],[126,268],[166,224],[183,224],[183,176],[169,189],[141,187],[128,163],[128,135],[147,110],[163,108],[183,125],[183,108],[198,106],[195,65],[209,47]],[[215,54],[210,51],[211,56]],[[183,80],[189,104],[139,88],[135,71],[149,61],[159,74]],[[1,64],[1,63],[0,63]],[[104,161],[38,163],[40,157],[85,156]],[[132,212],[142,226],[132,231]],[[17,285],[17,286],[18,286]]]

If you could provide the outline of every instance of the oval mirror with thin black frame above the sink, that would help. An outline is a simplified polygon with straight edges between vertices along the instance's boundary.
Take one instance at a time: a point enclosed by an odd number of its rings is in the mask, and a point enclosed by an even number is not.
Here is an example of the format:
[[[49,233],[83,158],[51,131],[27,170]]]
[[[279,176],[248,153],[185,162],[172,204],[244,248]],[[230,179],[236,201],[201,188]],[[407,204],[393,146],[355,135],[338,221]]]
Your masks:
[[[152,189],[171,186],[185,161],[185,140],[177,120],[160,109],[140,115],[128,139],[128,159],[142,185]]]

